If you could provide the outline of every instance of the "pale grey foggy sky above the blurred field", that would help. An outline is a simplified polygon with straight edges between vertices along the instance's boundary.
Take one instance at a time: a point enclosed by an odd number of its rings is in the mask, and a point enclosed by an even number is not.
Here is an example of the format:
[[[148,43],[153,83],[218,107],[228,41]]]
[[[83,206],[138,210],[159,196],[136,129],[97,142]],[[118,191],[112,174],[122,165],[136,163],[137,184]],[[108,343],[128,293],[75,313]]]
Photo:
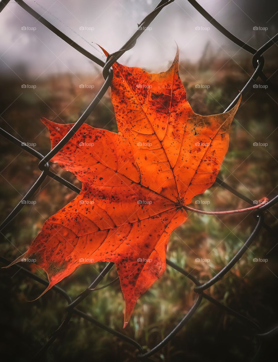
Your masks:
[[[103,58],[98,43],[109,52],[119,49],[158,0],[37,0],[78,37],[34,1],[28,5],[92,54]],[[199,3],[229,31],[249,45],[259,48],[277,33],[278,2],[259,0],[199,0]],[[268,30],[253,30],[253,27]],[[22,30],[22,27],[36,28]],[[82,30],[82,27],[85,29]],[[198,59],[210,41],[222,54],[241,56],[244,50],[233,45],[203,18],[186,0],[165,7],[120,62],[157,72],[167,69],[176,52],[181,59]],[[199,27],[203,30],[196,30]],[[210,28],[207,30],[206,28]],[[14,1],[0,14],[0,71],[5,74],[43,77],[55,72],[92,72],[100,67],[79,54],[50,30],[31,17]],[[93,46],[92,46],[93,45]]]

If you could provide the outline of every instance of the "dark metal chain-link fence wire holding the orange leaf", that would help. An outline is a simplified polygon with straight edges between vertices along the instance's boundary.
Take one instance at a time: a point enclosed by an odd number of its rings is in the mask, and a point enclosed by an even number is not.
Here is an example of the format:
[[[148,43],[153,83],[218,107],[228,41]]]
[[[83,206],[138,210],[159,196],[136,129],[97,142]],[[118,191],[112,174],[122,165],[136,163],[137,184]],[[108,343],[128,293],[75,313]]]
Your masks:
[[[5,6],[9,3],[10,0],[2,0],[0,2],[0,12],[5,8]],[[29,7],[23,0],[16,0],[16,3],[26,10],[31,16],[36,18],[39,22],[41,22],[43,25],[45,25],[49,30],[51,30],[54,34],[58,35],[61,39],[63,39],[66,43],[68,43],[70,46],[72,46],[74,49],[79,51],[81,54],[86,56],[88,59],[92,60],[96,64],[103,67],[103,76],[104,76],[104,84],[102,85],[100,91],[96,95],[96,97],[93,99],[93,101],[90,103],[88,108],[84,111],[84,113],[81,115],[81,117],[78,119],[78,121],[75,123],[75,125],[72,127],[71,130],[68,131],[66,136],[46,155],[43,156],[41,153],[35,151],[33,148],[29,147],[26,144],[23,144],[22,141],[16,139],[14,136],[9,134],[3,129],[0,129],[0,134],[4,136],[6,139],[10,140],[14,144],[16,144],[18,147],[21,147],[24,151],[29,152],[31,155],[37,157],[39,160],[38,167],[41,170],[41,175],[39,178],[35,181],[34,185],[30,188],[30,190],[26,193],[26,195],[22,198],[21,202],[18,203],[16,207],[10,212],[8,217],[4,220],[4,222],[1,224],[1,230],[7,226],[7,224],[18,214],[18,212],[24,207],[24,205],[28,204],[26,201],[28,201],[36,190],[38,190],[39,186],[42,184],[42,182],[45,180],[46,177],[51,177],[54,180],[60,182],[60,184],[66,186],[67,188],[75,191],[76,193],[79,193],[80,190],[76,188],[76,186],[70,184],[66,180],[64,180],[62,177],[56,175],[55,173],[51,172],[49,170],[49,161],[50,159],[56,155],[57,152],[61,150],[61,148],[71,139],[71,137],[75,134],[75,132],[81,127],[81,125],[86,121],[90,113],[96,108],[97,104],[100,102],[101,98],[104,96],[106,91],[108,90],[112,78],[113,78],[113,70],[111,66],[117,61],[117,59],[123,55],[127,50],[131,49],[135,46],[136,40],[139,38],[139,36],[143,33],[143,31],[148,27],[149,24],[155,19],[158,14],[161,12],[161,10],[172,3],[174,0],[161,0],[159,4],[156,5],[156,7],[152,10],[151,13],[149,13],[141,22],[138,24],[138,29],[134,32],[134,34],[131,35],[131,37],[126,41],[126,43],[119,49],[118,51],[114,52],[113,54],[110,54],[108,58],[106,59],[106,62],[103,62],[102,60],[98,59],[96,56],[92,55],[90,52],[85,50],[83,47],[81,47],[79,44],[77,44],[75,41],[73,41],[71,38],[69,38],[67,35],[65,35],[62,31],[57,29],[54,25],[52,25],[49,21],[47,21],[43,16],[38,14],[34,9]],[[264,67],[264,52],[268,50],[271,46],[273,46],[278,41],[278,34],[276,34],[273,38],[271,38],[267,43],[265,43],[260,49],[256,50],[253,47],[249,46],[239,38],[235,37],[235,35],[231,34],[224,26],[219,24],[218,21],[216,21],[208,12],[206,12],[205,9],[201,7],[195,0],[186,0],[188,1],[200,14],[202,14],[203,17],[206,18],[207,21],[209,21],[216,29],[218,29],[223,35],[225,35],[228,39],[230,39],[233,43],[238,45],[240,48],[248,51],[253,55],[252,58],[252,65],[254,68],[254,73],[248,80],[248,82],[245,84],[243,89],[241,90],[241,94],[243,97],[246,95],[250,87],[253,86],[255,81],[258,77],[261,78],[262,81],[264,81],[268,87],[275,88],[273,84],[268,80],[266,75],[263,73],[262,69]],[[276,87],[277,89],[277,87]],[[225,110],[228,111],[231,109],[237,102],[238,98],[240,97],[240,94],[235,98],[235,100],[232,101],[232,103],[228,106],[228,108]],[[254,205],[253,201],[246,197],[245,195],[239,193],[238,191],[234,190],[231,186],[227,185],[223,180],[221,180],[219,177],[216,178],[216,182],[218,182],[219,185],[221,185],[223,188],[227,189],[232,194],[236,195],[240,199],[244,200],[245,202],[249,203],[250,205]],[[25,201],[25,202],[24,202]],[[195,285],[194,291],[197,294],[197,298],[189,310],[189,312],[182,318],[182,320],[176,325],[176,327],[165,337],[159,344],[154,346],[151,349],[148,349],[148,352],[143,349],[143,347],[133,340],[132,338],[127,337],[126,335],[98,322],[93,317],[89,316],[88,314],[80,311],[76,307],[78,304],[84,300],[93,289],[96,289],[97,285],[101,282],[101,280],[105,277],[106,274],[109,273],[110,269],[114,265],[112,262],[108,263],[105,268],[102,270],[102,272],[98,275],[98,277],[92,282],[92,284],[84,290],[80,295],[78,295],[74,300],[71,299],[71,297],[67,294],[66,291],[61,289],[58,286],[53,286],[52,290],[63,296],[68,305],[66,307],[66,317],[60,324],[59,328],[56,329],[56,331],[51,335],[47,343],[37,352],[37,354],[34,357],[40,357],[42,356],[47,348],[56,340],[56,338],[62,333],[62,331],[67,327],[67,324],[69,323],[71,317],[73,315],[78,315],[85,320],[93,323],[97,327],[100,327],[104,329],[105,331],[113,334],[114,336],[117,336],[118,338],[121,338],[122,340],[126,341],[127,343],[134,346],[136,349],[138,349],[137,357],[139,359],[145,359],[150,360],[149,357],[152,356],[154,353],[156,353],[158,350],[160,350],[163,346],[165,346],[184,325],[189,321],[189,319],[193,316],[193,314],[197,311],[201,301],[203,298],[209,300],[209,302],[215,304],[217,307],[221,308],[222,310],[231,313],[233,316],[239,318],[247,327],[250,328],[250,333],[252,333],[253,336],[256,336],[260,341],[264,340],[264,338],[268,338],[269,336],[272,336],[275,332],[278,331],[278,325],[271,329],[270,331],[262,332],[261,328],[251,319],[248,319],[244,315],[241,315],[235,310],[232,310],[231,308],[221,304],[211,296],[204,293],[206,289],[214,285],[217,281],[219,281],[220,278],[222,278],[225,274],[228,273],[228,271],[236,264],[237,261],[243,256],[244,252],[248,249],[252,241],[255,239],[255,237],[260,233],[262,228],[265,228],[269,232],[272,232],[271,228],[264,223],[264,211],[268,210],[271,206],[273,206],[276,202],[278,202],[278,195],[256,209],[254,211],[254,216],[256,218],[256,226],[254,227],[254,230],[250,233],[250,236],[245,241],[244,245],[241,247],[241,249],[235,254],[235,256],[231,259],[231,261],[228,262],[228,264],[218,273],[216,274],[212,279],[210,279],[208,282],[201,284],[196,278],[194,278],[192,275],[187,273],[185,270],[180,268],[178,265],[174,264],[170,260],[167,260],[167,265],[176,269],[181,274],[183,274],[185,277],[189,278]],[[4,265],[10,264],[10,261],[6,260],[3,257],[0,257],[0,261]],[[17,270],[20,270],[21,273],[27,275],[30,278],[33,278],[35,281],[43,284],[48,285],[48,281],[45,279],[39,278],[36,274],[31,273],[29,270],[21,268],[18,265],[14,265],[13,268],[17,268]],[[259,344],[260,345],[260,344]]]

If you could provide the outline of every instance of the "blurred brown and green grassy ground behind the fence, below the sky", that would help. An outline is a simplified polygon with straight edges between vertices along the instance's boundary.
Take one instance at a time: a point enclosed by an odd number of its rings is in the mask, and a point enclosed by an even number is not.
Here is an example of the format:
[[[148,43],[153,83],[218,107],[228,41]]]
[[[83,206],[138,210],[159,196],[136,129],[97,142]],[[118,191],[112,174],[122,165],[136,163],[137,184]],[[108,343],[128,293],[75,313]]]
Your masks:
[[[205,56],[204,56],[205,58]],[[266,62],[266,73],[275,70],[273,54]],[[239,66],[226,59],[204,59],[197,64],[181,62],[180,74],[189,102],[196,113],[216,114],[224,111],[245,84],[253,70],[246,59]],[[205,66],[203,64],[206,64]],[[209,64],[209,65],[207,65]],[[220,70],[219,70],[220,69]],[[216,74],[215,74],[216,73]],[[276,73],[277,74],[277,73]],[[103,82],[101,75],[70,74],[49,76],[36,82],[36,89],[22,89],[17,80],[4,79],[1,96],[1,126],[22,142],[36,143],[35,149],[46,154],[50,149],[49,134],[39,122],[41,116],[57,123],[75,122]],[[276,79],[277,80],[277,79]],[[26,83],[33,84],[26,78]],[[79,84],[93,84],[93,89],[80,89]],[[209,89],[195,88],[210,85]],[[22,93],[22,94],[21,94]],[[21,94],[21,96],[20,96]],[[236,190],[251,199],[274,197],[277,192],[277,143],[275,141],[277,104],[271,89],[252,89],[242,101],[233,121],[230,146],[220,176]],[[18,98],[17,98],[18,97]],[[249,97],[249,98],[248,98]],[[16,101],[14,101],[16,99]],[[9,106],[12,102],[14,103]],[[9,107],[8,107],[9,106]],[[8,108],[7,108],[8,107]],[[109,92],[102,99],[87,123],[94,127],[117,131]],[[22,137],[22,138],[21,138]],[[266,142],[267,147],[253,146]],[[2,219],[13,209],[21,195],[39,176],[38,161],[2,138],[1,203]],[[51,168],[73,184],[79,181],[56,164]],[[54,180],[47,179],[36,192],[35,205],[25,206],[2,233],[0,253],[14,260],[28,248],[31,240],[50,215],[68,203],[75,194]],[[195,203],[199,200],[201,203]],[[193,201],[203,210],[230,210],[246,207],[246,203],[217,184]],[[266,212],[266,222],[277,228],[277,207]],[[167,257],[197,277],[201,282],[220,271],[254,228],[250,214],[208,216],[189,212],[188,220],[170,238]],[[276,234],[277,235],[277,234]],[[206,292],[250,317],[262,328],[277,321],[277,243],[275,237],[262,230],[248,251],[227,275]],[[196,258],[209,259],[197,262]],[[253,258],[268,258],[267,263]],[[27,264],[27,263],[26,263]],[[59,283],[72,298],[83,291],[104,263],[84,265]],[[26,265],[23,265],[26,267]],[[42,270],[27,266],[40,277]],[[43,287],[11,270],[1,270],[1,325],[5,330],[1,351],[7,360],[29,361],[64,317],[65,301],[53,291],[39,300]],[[117,277],[115,268],[101,285]],[[163,277],[138,301],[130,325],[122,331],[123,296],[119,282],[107,289],[92,292],[79,306],[101,323],[135,338],[143,346],[152,347],[161,341],[189,311],[196,295],[193,283],[167,267]],[[200,348],[201,347],[201,348]],[[256,352],[257,340],[237,319],[222,312],[206,300],[189,323],[161,351],[154,361],[223,361],[223,353],[233,361],[249,361]],[[51,346],[46,361],[135,361],[134,348],[87,321],[73,316],[67,330]],[[268,361],[271,355],[265,354]]]

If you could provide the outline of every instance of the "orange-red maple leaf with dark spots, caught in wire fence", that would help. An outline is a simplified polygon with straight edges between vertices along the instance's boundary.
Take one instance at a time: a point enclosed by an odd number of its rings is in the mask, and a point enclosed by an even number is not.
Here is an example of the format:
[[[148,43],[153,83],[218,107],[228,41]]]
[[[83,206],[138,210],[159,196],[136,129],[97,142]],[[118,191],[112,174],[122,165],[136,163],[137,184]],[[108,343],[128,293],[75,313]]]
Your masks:
[[[113,71],[118,134],[84,124],[52,158],[82,182],[81,193],[10,265],[36,260],[49,279],[44,294],[82,264],[114,262],[125,327],[139,296],[165,270],[169,237],[187,218],[184,206],[214,183],[240,100],[227,113],[194,113],[178,75],[178,51],[166,72],[119,63]],[[73,126],[42,122],[52,148]]]

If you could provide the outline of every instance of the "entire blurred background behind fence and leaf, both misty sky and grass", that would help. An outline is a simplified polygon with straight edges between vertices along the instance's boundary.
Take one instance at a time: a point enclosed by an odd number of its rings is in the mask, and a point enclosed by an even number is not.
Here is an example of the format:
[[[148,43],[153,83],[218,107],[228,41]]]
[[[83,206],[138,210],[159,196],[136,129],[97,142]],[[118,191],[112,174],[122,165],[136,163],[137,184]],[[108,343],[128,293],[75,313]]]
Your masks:
[[[156,4],[153,0],[40,0],[38,3],[28,0],[26,3],[101,59],[105,57],[96,43],[109,52],[116,51]],[[277,33],[276,1],[268,1],[267,6],[249,0],[199,0],[199,3],[233,34],[257,49]],[[15,2],[10,1],[0,19],[1,127],[45,155],[50,150],[49,133],[39,118],[43,116],[57,123],[76,122],[103,84],[102,70]],[[150,27],[120,62],[148,71],[166,70],[174,58],[176,41],[181,50],[180,76],[196,113],[223,112],[253,73],[252,56],[214,29],[187,1],[177,0],[168,5]],[[278,83],[277,50],[274,45],[265,53],[264,67],[275,84]],[[258,79],[257,87],[241,102],[219,174],[253,200],[277,194],[277,92],[262,85]],[[117,132],[110,90],[87,123]],[[254,146],[256,143],[264,146]],[[52,164],[51,169],[80,187],[79,181],[58,165]],[[37,159],[1,138],[1,219],[39,174]],[[1,255],[12,261],[26,251],[43,222],[74,197],[75,193],[47,178],[32,198],[34,203],[26,205],[1,231]],[[215,184],[196,197],[192,206],[232,210],[248,205]],[[265,216],[274,232],[262,230],[232,270],[207,290],[226,306],[253,319],[263,331],[274,326],[278,319],[277,207]],[[167,256],[205,282],[227,264],[254,225],[250,213],[216,217],[189,212],[186,223],[171,236]],[[197,261],[198,258],[209,262]],[[254,258],[267,261],[255,262]],[[22,264],[45,277],[32,264]],[[84,265],[59,286],[74,298],[104,266],[105,263]],[[113,268],[101,285],[116,277]],[[49,291],[35,302],[26,302],[36,298],[44,287],[9,269],[0,271],[0,286],[3,360],[29,361],[63,319],[64,299]],[[118,281],[92,292],[80,309],[151,348],[188,312],[196,298],[193,287],[188,279],[167,267],[163,277],[140,298],[124,331],[124,301]],[[239,320],[203,300],[186,327],[152,359],[252,361],[257,349],[258,341]],[[264,344],[261,355],[267,361],[275,361],[274,349],[270,340]],[[125,342],[74,316],[45,360],[131,362],[135,361],[135,355]]]

